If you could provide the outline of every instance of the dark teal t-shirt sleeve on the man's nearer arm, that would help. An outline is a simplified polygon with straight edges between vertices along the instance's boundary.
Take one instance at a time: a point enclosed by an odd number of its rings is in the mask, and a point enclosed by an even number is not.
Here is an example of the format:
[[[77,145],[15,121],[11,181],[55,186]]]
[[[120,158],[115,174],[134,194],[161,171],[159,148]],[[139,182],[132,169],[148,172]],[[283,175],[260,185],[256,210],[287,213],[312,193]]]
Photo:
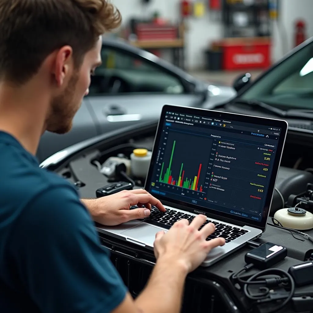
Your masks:
[[[74,188],[42,192],[15,230],[18,276],[41,312],[105,313],[124,300],[126,287]]]

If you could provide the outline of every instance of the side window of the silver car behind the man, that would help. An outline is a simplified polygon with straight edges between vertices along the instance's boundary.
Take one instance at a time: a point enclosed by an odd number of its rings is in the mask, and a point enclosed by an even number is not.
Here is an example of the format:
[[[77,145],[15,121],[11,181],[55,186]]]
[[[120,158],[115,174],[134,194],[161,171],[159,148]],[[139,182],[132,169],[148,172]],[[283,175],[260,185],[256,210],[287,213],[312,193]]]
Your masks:
[[[125,93],[184,93],[180,80],[145,59],[103,47],[102,65],[91,77],[89,95]]]

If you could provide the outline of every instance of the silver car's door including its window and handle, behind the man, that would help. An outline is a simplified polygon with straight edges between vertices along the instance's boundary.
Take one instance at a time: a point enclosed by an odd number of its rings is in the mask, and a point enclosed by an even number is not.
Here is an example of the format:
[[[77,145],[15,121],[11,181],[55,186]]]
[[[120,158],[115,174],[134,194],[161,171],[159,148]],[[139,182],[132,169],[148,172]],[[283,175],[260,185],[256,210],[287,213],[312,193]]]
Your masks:
[[[156,120],[166,103],[197,106],[203,95],[192,93],[182,78],[139,54],[103,45],[102,65],[91,78],[85,98],[102,133]]]

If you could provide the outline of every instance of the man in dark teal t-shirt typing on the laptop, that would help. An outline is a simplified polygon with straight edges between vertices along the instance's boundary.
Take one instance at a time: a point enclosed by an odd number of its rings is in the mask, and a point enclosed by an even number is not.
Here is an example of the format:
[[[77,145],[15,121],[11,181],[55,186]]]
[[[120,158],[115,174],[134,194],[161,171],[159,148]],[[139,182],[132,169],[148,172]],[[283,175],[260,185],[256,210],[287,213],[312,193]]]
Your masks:
[[[100,64],[100,35],[120,24],[105,0],[0,0],[1,312],[178,312],[187,273],[224,239],[203,215],[156,235],[157,259],[133,300],[92,219],[116,225],[165,208],[145,190],[80,201],[38,167],[45,131],[70,130]],[[131,205],[145,208],[129,210]]]

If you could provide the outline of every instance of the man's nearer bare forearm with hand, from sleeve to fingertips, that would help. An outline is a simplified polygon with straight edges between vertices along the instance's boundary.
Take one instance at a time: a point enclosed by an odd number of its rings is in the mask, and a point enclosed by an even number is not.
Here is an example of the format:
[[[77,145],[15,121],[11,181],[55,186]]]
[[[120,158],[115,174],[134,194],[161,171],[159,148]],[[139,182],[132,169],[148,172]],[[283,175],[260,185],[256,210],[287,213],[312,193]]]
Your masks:
[[[167,234],[158,233],[155,241],[156,265],[146,288],[135,301],[127,294],[112,313],[178,313],[181,310],[183,286],[188,272],[198,267],[208,252],[223,245],[223,238],[206,241],[215,230],[212,223],[201,231],[206,220],[200,215],[189,225],[181,220]]]

